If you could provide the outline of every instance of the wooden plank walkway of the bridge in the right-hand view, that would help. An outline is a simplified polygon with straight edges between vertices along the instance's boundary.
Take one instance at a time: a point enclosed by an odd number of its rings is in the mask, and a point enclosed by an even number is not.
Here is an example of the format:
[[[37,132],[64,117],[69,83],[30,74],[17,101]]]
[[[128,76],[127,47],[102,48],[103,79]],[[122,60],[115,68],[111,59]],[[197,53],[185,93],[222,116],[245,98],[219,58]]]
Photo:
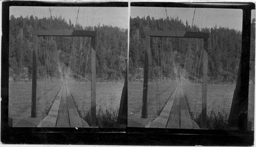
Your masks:
[[[182,86],[178,84],[160,115],[152,121],[151,128],[199,129],[193,121],[188,112]]]

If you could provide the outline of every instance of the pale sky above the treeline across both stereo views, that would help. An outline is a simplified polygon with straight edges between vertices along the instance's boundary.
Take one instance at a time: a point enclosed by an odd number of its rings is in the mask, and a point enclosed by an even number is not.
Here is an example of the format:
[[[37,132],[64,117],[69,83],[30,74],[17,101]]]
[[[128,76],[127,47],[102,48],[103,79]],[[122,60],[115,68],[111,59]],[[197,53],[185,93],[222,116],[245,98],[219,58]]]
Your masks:
[[[50,7],[52,16],[69,19],[73,24],[76,23],[78,7]],[[38,18],[50,17],[49,7],[10,7],[10,15],[23,17],[35,15]],[[195,8],[166,8],[169,17],[179,17],[185,24],[186,20],[191,25]],[[111,25],[127,29],[128,26],[128,8],[127,7],[79,7],[77,23],[82,26]],[[131,17],[151,17],[166,18],[165,8],[159,7],[131,7]],[[208,17],[207,17],[208,16]],[[252,18],[255,18],[255,10],[252,11]],[[215,25],[219,28],[228,27],[229,29],[242,30],[242,10],[241,9],[213,9],[196,8],[193,24],[200,28],[212,28]]]

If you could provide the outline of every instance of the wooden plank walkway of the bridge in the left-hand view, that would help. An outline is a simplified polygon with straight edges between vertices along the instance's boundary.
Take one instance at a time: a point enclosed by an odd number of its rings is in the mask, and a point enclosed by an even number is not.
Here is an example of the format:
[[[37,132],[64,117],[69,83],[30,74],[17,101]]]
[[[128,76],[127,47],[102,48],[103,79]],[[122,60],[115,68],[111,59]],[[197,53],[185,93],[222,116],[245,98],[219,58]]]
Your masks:
[[[86,121],[80,118],[72,100],[68,86],[63,83],[49,114],[42,119],[41,127],[89,127]]]

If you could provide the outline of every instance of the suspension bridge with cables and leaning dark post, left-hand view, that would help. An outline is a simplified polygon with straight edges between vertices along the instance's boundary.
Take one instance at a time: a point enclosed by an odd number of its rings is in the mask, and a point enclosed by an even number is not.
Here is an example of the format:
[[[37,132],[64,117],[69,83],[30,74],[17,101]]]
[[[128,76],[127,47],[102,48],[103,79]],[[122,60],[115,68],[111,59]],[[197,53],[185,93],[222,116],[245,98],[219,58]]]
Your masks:
[[[50,8],[50,7],[49,7]],[[51,9],[50,9],[51,12]],[[78,18],[79,8],[77,12]],[[32,99],[31,117],[22,118],[15,127],[97,127],[96,122],[96,40],[97,32],[89,28],[84,30],[75,25],[71,29],[55,29],[50,19],[42,19],[41,28],[33,31],[33,61],[32,61]],[[49,21],[50,20],[50,21]],[[36,22],[35,22],[36,23]],[[38,22],[40,23],[40,22]],[[77,20],[76,20],[77,23]],[[55,26],[56,27],[56,26]],[[58,39],[60,38],[60,39]],[[58,41],[57,41],[58,40]],[[57,48],[57,43],[62,43],[63,48]],[[70,45],[72,44],[72,45]],[[61,45],[58,45],[61,46]],[[70,54],[67,54],[67,51]],[[66,51],[66,52],[65,52]],[[91,55],[91,57],[89,56]],[[69,59],[69,61],[67,61]],[[39,61],[39,62],[38,62]],[[91,62],[91,65],[88,63]],[[39,64],[38,64],[39,63]],[[127,67],[126,67],[127,68]],[[38,78],[42,79],[38,82]],[[55,81],[53,80],[55,79]],[[38,117],[38,107],[40,99],[45,94],[43,87],[48,83],[59,83],[60,87],[54,96],[49,112],[45,117]],[[38,89],[38,83],[43,84]],[[73,90],[79,89],[82,83],[91,83],[90,90],[81,91],[86,101],[86,93],[91,93],[90,122],[81,118],[80,110],[74,101],[70,86]],[[126,84],[125,84],[126,83]],[[71,84],[71,85],[70,85]],[[79,87],[80,86],[80,87]],[[41,91],[41,95],[40,92]],[[48,93],[49,91],[46,91]],[[51,90],[50,90],[51,92]],[[77,92],[77,91],[74,91]],[[38,95],[39,94],[39,95]],[[51,95],[47,95],[53,97]],[[44,105],[44,100],[41,100]],[[85,102],[86,103],[86,102]],[[45,106],[44,106],[45,107]],[[122,89],[119,113],[116,120],[116,127],[125,127],[127,118],[127,69],[124,86]],[[12,126],[12,119],[9,120]],[[89,125],[90,124],[90,125]]]

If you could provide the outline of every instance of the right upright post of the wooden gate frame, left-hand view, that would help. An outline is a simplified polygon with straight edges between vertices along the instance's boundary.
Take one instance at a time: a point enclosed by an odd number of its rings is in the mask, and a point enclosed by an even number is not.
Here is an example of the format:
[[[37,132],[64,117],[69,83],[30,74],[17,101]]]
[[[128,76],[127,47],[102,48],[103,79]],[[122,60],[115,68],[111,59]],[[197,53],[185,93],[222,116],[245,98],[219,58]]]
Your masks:
[[[91,126],[96,127],[96,51],[95,36],[91,37],[92,81],[91,81]]]

